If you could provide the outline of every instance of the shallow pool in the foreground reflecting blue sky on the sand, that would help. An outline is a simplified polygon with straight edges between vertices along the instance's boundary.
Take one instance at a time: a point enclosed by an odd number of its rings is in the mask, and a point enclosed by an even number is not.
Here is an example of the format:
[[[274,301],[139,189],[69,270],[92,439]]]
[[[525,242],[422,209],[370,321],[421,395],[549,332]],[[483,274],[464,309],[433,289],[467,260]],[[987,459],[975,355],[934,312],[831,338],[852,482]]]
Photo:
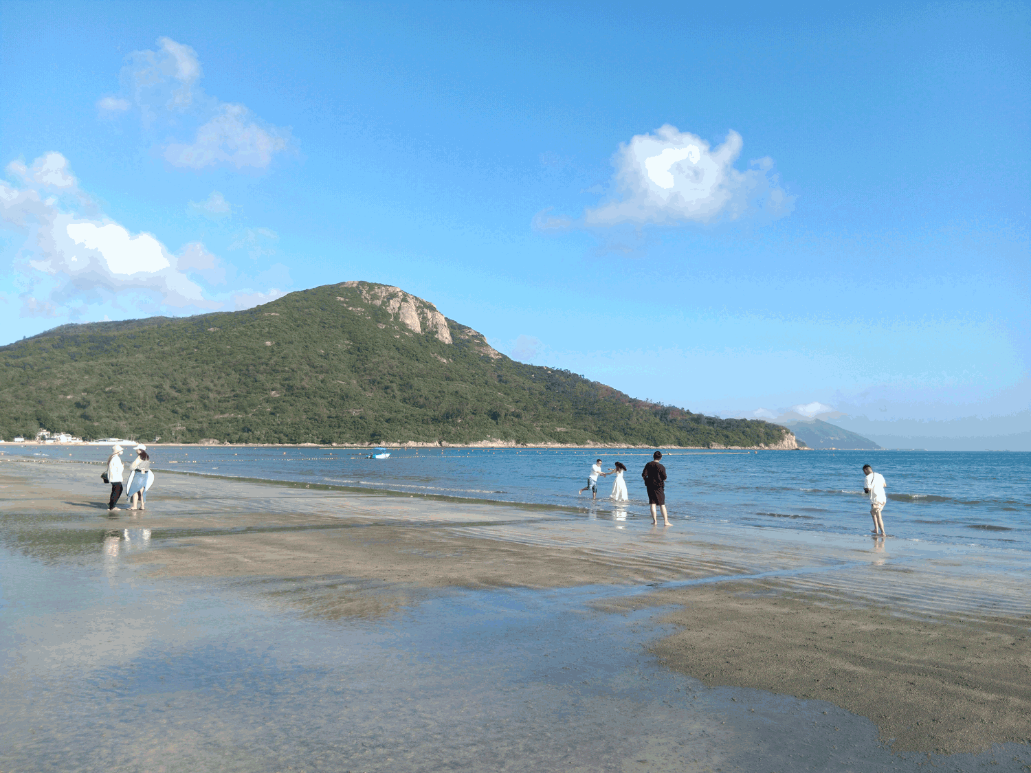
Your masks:
[[[76,565],[4,554],[0,770],[1017,771],[1031,762],[1017,744],[893,754],[869,720],[832,704],[705,687],[642,649],[668,633],[654,621],[662,610],[591,609],[611,587],[418,592],[378,618],[329,618],[319,598],[332,578],[155,583],[120,561],[145,542],[108,533],[96,560]]]

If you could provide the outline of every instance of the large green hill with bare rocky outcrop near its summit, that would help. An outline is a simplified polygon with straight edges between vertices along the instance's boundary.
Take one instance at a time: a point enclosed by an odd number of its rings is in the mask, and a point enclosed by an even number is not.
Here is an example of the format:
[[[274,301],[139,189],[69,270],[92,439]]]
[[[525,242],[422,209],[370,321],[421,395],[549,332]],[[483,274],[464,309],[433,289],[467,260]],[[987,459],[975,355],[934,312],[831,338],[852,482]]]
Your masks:
[[[343,282],[245,311],[65,325],[0,347],[0,437],[794,446],[781,427],[518,363],[436,307]]]

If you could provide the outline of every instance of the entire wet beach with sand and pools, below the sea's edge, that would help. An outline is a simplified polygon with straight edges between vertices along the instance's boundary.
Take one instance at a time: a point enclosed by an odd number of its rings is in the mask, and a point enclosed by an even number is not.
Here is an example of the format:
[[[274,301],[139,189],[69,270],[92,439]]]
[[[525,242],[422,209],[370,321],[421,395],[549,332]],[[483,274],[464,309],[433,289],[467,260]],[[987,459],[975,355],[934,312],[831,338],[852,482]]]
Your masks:
[[[5,773],[1031,764],[1019,551],[99,470],[0,461]]]

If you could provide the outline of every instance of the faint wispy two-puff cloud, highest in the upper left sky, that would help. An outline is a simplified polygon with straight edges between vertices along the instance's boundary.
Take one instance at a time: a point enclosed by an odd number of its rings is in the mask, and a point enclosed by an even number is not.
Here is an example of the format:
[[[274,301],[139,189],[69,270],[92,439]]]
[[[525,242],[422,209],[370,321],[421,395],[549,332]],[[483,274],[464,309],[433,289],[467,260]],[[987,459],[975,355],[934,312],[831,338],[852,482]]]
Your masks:
[[[199,86],[202,75],[197,53],[168,37],[158,38],[158,51],[134,52],[122,70],[125,94],[145,125],[164,119],[179,127],[187,116],[195,119],[192,140],[166,142],[163,155],[169,164],[264,169],[290,148],[290,129],[262,121],[242,104],[206,95]],[[102,114],[110,114],[128,107],[129,100],[104,97],[97,105]]]

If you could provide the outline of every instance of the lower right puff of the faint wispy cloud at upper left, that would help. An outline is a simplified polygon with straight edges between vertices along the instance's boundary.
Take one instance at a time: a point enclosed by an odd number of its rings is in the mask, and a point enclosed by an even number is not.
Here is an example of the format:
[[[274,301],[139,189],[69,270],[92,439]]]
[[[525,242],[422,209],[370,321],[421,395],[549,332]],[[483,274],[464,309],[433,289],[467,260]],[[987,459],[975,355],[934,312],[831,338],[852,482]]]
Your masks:
[[[246,107],[222,104],[219,113],[197,130],[190,143],[170,143],[165,160],[172,166],[202,169],[228,164],[264,168],[287,149],[290,130],[260,123]]]

